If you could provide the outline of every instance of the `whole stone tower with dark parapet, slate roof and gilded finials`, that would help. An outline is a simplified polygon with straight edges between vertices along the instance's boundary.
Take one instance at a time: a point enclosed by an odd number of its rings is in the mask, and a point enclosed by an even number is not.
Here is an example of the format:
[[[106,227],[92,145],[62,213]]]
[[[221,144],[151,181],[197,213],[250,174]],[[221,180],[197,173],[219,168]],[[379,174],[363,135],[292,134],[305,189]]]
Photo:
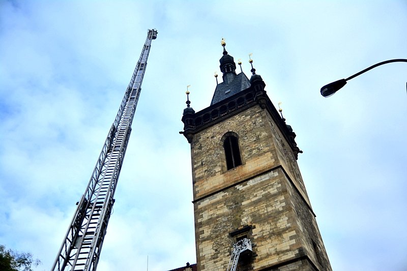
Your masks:
[[[236,73],[225,45],[223,82],[201,111],[188,98],[180,132],[191,144],[197,269],[226,270],[234,244],[247,238],[249,253],[236,270],[332,270],[298,168],[296,134],[253,66],[250,80]]]

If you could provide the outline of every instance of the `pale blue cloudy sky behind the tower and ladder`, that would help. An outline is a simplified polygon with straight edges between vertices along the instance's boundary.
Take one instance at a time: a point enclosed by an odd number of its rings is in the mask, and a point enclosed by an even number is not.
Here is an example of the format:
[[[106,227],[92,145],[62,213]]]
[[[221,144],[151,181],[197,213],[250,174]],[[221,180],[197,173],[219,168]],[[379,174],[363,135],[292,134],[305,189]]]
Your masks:
[[[407,270],[405,1],[0,0],[0,244],[49,270],[147,37],[152,42],[98,271],[195,263],[190,87],[210,105],[221,38],[248,54],[303,150],[334,270]],[[221,76],[218,77],[221,80]],[[149,260],[147,260],[149,259]]]

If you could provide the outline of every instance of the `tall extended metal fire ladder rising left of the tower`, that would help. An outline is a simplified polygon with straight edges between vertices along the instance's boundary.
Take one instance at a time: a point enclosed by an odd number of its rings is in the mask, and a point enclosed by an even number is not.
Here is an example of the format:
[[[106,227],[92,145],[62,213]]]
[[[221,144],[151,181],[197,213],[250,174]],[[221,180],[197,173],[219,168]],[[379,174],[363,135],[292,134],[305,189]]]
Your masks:
[[[88,187],[77,203],[78,207],[51,270],[96,270],[114,203],[114,191],[130,137],[131,123],[140,96],[151,41],[157,38],[157,33],[156,29],[148,31],[146,43],[141,50],[119,112],[107,134]]]

